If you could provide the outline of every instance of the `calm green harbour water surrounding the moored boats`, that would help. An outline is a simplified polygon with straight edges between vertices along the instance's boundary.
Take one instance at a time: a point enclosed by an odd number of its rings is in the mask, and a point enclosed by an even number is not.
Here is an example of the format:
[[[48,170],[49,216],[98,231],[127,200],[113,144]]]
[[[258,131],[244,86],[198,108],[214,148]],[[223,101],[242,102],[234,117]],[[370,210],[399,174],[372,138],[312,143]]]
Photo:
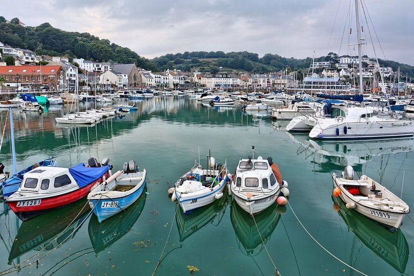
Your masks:
[[[414,224],[408,217],[391,233],[341,203],[335,211],[331,196],[331,174],[352,165],[359,175],[380,181],[398,196],[404,177],[402,199],[414,208],[412,139],[322,143],[286,133],[286,122],[272,122],[266,112],[213,108],[172,97],[135,104],[138,111],[92,127],[56,126],[54,118],[67,106],[51,106],[42,115],[13,110],[18,170],[51,155],[63,167],[91,156],[98,161],[109,157],[114,171],[133,159],[147,170],[147,194],[101,224],[94,215],[87,216],[89,206],[82,210],[86,200],[24,223],[3,206],[0,271],[17,269],[17,263],[36,253],[32,260],[51,252],[39,268],[33,264],[11,274],[151,275],[173,223],[156,275],[190,275],[187,265],[199,268],[194,274],[200,276],[275,275],[256,226],[230,196],[184,216],[180,209],[175,213],[177,206],[167,195],[198,159],[199,146],[202,165],[211,149],[234,172],[238,159],[251,155],[255,145],[258,155],[272,156],[278,164],[289,183],[293,211],[327,250],[368,275],[414,274],[409,254],[414,250]],[[6,114],[7,109],[0,110],[2,129]],[[8,132],[0,161],[11,170]],[[289,207],[272,206],[255,219],[283,276],[358,275],[319,247]]]

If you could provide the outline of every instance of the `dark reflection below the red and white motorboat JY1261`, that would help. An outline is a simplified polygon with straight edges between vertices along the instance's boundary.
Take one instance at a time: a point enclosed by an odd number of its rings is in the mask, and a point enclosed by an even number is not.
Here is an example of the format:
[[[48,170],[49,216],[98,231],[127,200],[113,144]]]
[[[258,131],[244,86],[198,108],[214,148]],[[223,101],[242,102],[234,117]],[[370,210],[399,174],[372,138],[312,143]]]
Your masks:
[[[80,227],[90,212],[86,204],[86,200],[80,200],[66,207],[24,221],[19,227],[10,250],[9,264],[14,259],[32,250],[50,251],[73,239],[79,230],[78,226]]]

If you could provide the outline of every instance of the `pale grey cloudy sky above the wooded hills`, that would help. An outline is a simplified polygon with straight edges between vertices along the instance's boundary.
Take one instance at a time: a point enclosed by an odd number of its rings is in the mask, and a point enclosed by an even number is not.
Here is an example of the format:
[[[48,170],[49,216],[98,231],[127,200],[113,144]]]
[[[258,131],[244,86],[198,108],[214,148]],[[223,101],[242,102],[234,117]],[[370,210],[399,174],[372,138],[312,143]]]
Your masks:
[[[414,1],[362,1],[381,42],[383,51],[371,25],[377,56],[414,65]],[[357,54],[357,47],[349,46],[356,43],[353,4],[354,0],[22,0],[16,9],[15,1],[3,0],[0,14],[9,20],[19,17],[31,26],[49,22],[63,30],[89,32],[146,58],[184,51],[305,58],[313,51],[316,56]],[[367,24],[363,25],[368,42],[364,53],[373,57]]]

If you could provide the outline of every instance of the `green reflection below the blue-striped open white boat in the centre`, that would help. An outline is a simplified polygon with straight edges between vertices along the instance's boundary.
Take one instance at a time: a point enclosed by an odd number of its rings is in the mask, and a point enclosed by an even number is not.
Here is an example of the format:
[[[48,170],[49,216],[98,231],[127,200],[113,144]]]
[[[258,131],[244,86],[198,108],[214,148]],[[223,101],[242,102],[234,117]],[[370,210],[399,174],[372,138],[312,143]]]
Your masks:
[[[197,209],[188,215],[177,211],[175,214],[175,220],[177,222],[178,233],[180,235],[180,242],[183,242],[185,239],[189,238],[189,236],[200,230],[208,223],[217,226],[224,216],[229,200],[231,199],[224,195],[221,199]],[[217,220],[215,218],[217,218]]]

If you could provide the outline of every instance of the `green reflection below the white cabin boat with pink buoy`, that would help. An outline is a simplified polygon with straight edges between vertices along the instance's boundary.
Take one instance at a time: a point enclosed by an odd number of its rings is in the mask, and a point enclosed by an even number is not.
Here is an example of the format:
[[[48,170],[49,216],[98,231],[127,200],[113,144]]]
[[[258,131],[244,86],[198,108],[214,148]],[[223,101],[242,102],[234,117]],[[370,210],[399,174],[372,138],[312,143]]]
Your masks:
[[[281,214],[285,211],[285,206],[278,206],[275,202],[273,205],[254,216],[257,228],[259,229],[261,238],[265,244],[269,241],[273,230],[275,230],[276,225],[279,222]],[[250,217],[249,213],[233,202],[230,208],[230,219],[234,231],[236,232],[237,243],[240,250],[247,256],[255,256],[259,254],[264,246],[261,243],[260,235],[257,232],[254,220]],[[240,243],[244,250],[240,246]]]

